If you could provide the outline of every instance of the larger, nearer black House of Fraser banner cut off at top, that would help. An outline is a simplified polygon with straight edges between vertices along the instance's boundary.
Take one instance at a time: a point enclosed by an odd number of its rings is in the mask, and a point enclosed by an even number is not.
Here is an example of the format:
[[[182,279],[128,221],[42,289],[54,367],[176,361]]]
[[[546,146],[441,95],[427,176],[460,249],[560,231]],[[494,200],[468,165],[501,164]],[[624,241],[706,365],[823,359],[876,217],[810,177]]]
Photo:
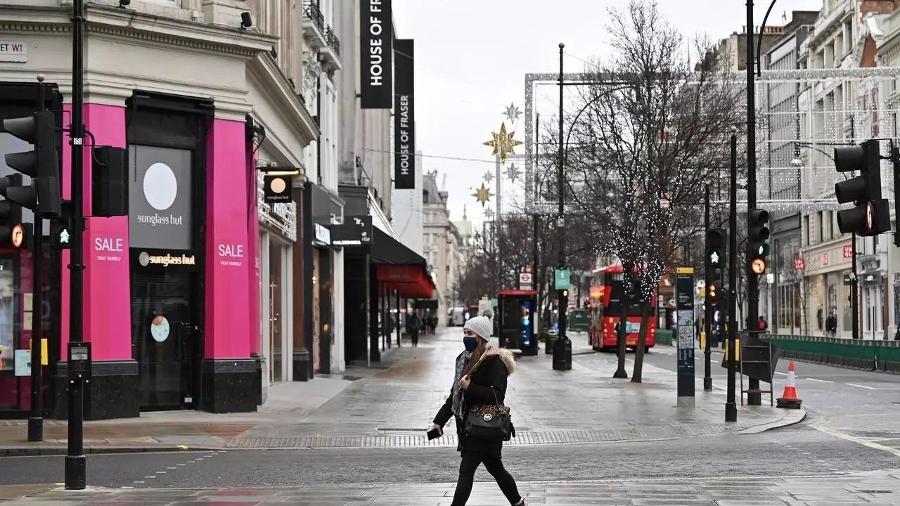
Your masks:
[[[393,105],[391,0],[359,2],[360,102],[363,109]]]

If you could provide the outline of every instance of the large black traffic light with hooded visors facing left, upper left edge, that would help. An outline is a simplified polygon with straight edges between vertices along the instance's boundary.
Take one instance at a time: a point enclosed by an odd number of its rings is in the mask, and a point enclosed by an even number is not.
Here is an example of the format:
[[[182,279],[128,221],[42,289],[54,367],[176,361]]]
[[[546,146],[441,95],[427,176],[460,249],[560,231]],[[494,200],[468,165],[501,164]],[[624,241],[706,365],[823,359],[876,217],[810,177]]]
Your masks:
[[[31,151],[9,153],[6,165],[33,180],[31,185],[11,185],[4,196],[44,218],[59,215],[59,154],[56,115],[51,111],[3,121],[4,131],[34,146]]]

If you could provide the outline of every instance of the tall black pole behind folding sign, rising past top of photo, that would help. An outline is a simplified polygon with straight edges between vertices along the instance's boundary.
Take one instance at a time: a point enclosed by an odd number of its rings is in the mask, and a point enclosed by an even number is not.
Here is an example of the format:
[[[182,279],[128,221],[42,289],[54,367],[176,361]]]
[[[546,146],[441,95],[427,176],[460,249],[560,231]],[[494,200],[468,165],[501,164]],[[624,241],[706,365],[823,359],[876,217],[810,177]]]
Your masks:
[[[755,37],[753,34],[753,0],[747,0],[747,212],[750,213],[750,210],[756,207],[756,59],[753,55],[753,42],[755,41]],[[735,182],[732,183],[733,189],[732,192],[734,194],[734,185]],[[736,196],[733,196],[736,198]],[[737,230],[737,225],[734,224],[731,227],[732,234],[734,235],[734,230]],[[749,230],[748,230],[749,231]],[[748,248],[749,248],[748,241]],[[732,249],[733,255],[737,254],[737,248]],[[748,260],[750,255],[747,256]],[[742,266],[744,271],[747,273],[747,316],[750,320],[751,325],[756,325],[757,321],[760,319],[760,278],[759,276],[753,274],[749,265]],[[728,284],[728,289],[731,291],[732,285]],[[729,315],[728,318],[732,319],[734,312],[730,311],[731,302],[729,302]],[[733,324],[736,326],[740,324],[739,321],[733,321]],[[730,329],[730,327],[729,327]],[[731,330],[729,330],[729,336],[731,335]],[[747,393],[747,404],[751,406],[760,406],[762,404],[762,394],[760,391],[760,380],[750,378],[750,382],[748,383]],[[736,416],[736,415],[735,415]]]

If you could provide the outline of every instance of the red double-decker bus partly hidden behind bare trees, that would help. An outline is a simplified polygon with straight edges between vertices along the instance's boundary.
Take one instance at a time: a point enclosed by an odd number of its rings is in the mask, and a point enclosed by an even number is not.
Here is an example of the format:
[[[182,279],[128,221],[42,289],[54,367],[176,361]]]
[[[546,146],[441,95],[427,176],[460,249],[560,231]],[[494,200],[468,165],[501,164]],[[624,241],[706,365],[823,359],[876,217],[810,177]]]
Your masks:
[[[635,270],[636,272],[636,270]],[[627,298],[622,287],[624,270],[622,264],[594,269],[590,275],[590,346],[597,351],[616,349],[616,329],[622,314],[622,300]],[[650,328],[644,345],[647,349],[656,346],[656,291],[651,299]],[[626,347],[637,346],[638,332],[641,330],[641,306],[630,300],[626,303]]]

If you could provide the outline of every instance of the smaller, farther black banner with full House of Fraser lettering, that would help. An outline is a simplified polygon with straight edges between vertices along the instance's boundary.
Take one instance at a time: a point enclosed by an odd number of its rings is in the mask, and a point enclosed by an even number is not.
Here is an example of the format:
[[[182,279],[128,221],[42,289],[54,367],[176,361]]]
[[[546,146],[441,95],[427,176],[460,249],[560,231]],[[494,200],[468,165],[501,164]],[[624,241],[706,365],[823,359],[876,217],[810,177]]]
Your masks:
[[[394,104],[394,188],[416,189],[416,95],[413,72],[413,41],[394,41],[394,83],[397,103]]]

